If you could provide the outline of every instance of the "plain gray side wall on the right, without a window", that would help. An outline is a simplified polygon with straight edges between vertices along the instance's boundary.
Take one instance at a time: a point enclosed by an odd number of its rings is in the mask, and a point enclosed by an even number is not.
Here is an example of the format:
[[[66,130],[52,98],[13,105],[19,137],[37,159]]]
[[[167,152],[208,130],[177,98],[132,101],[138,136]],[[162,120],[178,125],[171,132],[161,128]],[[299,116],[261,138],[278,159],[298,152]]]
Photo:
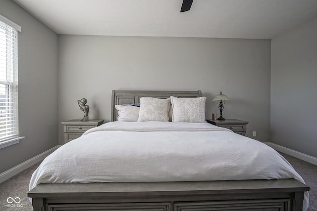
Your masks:
[[[271,142],[317,157],[317,17],[271,41]]]

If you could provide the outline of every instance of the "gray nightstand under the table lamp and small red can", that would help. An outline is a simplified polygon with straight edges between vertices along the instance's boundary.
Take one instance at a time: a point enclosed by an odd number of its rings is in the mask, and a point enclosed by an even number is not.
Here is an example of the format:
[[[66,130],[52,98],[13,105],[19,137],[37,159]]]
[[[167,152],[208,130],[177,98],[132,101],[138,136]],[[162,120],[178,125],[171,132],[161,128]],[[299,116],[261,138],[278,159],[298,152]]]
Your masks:
[[[206,120],[208,123],[231,129],[233,132],[246,136],[247,124],[249,122],[243,120]]]

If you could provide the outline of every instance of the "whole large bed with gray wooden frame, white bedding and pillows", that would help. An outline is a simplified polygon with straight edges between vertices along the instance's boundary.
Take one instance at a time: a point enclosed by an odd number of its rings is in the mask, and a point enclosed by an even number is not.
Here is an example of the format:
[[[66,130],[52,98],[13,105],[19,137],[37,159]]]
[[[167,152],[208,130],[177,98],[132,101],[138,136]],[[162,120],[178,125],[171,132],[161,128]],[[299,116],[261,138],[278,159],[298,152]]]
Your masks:
[[[199,115],[191,116],[192,123],[179,121],[187,118],[179,109],[187,102],[182,100],[204,101],[201,91],[113,90],[111,99],[111,122],[61,146],[33,173],[28,196],[34,211],[308,208],[309,187],[272,148],[226,128],[195,122]],[[164,121],[147,121],[161,117],[146,112],[151,106],[145,102],[153,99],[154,109],[164,107]],[[143,121],[117,121],[124,112],[118,105],[135,110],[140,101],[138,120]]]

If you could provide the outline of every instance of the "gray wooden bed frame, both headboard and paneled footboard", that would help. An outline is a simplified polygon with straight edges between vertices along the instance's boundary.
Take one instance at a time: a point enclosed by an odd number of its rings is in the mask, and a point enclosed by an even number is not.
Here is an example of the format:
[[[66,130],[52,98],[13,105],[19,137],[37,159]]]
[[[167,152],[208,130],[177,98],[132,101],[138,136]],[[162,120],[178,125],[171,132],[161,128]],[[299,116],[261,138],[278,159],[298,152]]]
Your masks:
[[[114,105],[140,98],[199,97],[201,91],[112,91]],[[309,187],[295,179],[135,183],[43,183],[34,211],[302,211]]]

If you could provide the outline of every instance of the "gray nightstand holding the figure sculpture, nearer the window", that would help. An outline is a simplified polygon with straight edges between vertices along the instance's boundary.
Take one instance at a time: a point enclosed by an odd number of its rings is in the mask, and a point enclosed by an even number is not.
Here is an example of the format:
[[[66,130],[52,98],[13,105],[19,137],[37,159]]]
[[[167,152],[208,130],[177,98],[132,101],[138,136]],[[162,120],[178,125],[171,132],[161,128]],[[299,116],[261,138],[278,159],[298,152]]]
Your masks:
[[[62,122],[64,126],[64,141],[65,143],[80,137],[86,130],[100,126],[104,123],[104,120],[89,120],[88,122],[82,122],[80,120],[69,120]]]

